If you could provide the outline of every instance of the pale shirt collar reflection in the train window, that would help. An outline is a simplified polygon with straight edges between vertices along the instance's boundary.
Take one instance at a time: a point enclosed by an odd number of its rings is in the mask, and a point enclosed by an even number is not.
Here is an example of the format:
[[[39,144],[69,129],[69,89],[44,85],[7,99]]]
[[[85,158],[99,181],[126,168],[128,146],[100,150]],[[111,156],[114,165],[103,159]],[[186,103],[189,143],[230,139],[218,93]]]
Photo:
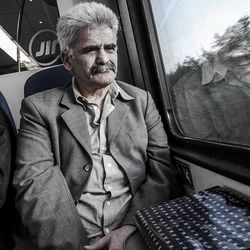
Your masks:
[[[202,85],[218,82],[226,78],[228,68],[222,64],[218,55],[202,64]]]

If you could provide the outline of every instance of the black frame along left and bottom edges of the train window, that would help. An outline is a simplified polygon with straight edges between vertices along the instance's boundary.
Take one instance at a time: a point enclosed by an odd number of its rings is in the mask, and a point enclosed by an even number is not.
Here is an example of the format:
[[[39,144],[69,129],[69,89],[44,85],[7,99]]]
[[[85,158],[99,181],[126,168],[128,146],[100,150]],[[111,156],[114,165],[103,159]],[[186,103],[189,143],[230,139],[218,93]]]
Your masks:
[[[130,1],[127,0],[127,2]],[[169,137],[172,155],[181,157],[218,174],[249,185],[250,164],[248,158],[250,155],[250,147],[246,145],[235,145],[231,143],[191,138],[181,133],[176,123],[173,109],[171,108],[170,93],[167,88],[168,80],[164,73],[164,64],[153,19],[151,3],[150,1],[140,0],[138,6],[141,8],[141,16],[144,18],[144,22],[136,24],[133,23],[135,20],[131,18],[132,25],[144,26],[143,28],[146,30],[146,36],[150,44],[151,66],[154,68],[154,76],[146,79],[146,83],[148,82],[148,84],[146,84],[146,89],[150,90],[156,88],[158,91],[153,97],[158,101],[160,99],[158,107]],[[131,8],[130,15],[133,15],[133,12],[134,10]],[[138,39],[136,32],[134,32],[134,36],[140,57],[140,53],[145,53],[145,51],[140,51],[139,49],[142,45],[142,40]],[[140,63],[143,64],[142,60],[140,60]],[[152,79],[156,79],[157,81],[152,84]]]

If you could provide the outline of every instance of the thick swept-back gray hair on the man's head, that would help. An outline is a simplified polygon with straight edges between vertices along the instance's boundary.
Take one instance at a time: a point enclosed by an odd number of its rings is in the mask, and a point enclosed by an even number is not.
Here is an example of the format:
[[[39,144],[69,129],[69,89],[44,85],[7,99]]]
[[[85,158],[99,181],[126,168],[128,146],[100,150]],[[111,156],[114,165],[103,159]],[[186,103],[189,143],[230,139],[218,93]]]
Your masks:
[[[96,2],[83,2],[75,5],[58,19],[57,37],[61,52],[73,56],[80,31],[100,25],[107,25],[117,35],[119,21],[110,8]]]

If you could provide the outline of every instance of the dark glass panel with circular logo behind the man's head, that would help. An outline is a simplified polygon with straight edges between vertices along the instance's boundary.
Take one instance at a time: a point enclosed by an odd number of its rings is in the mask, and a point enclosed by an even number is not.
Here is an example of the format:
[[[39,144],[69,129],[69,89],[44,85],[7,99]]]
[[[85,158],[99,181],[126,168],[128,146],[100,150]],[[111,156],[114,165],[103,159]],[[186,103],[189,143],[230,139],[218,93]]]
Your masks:
[[[60,63],[58,16],[56,0],[0,0],[0,74]]]

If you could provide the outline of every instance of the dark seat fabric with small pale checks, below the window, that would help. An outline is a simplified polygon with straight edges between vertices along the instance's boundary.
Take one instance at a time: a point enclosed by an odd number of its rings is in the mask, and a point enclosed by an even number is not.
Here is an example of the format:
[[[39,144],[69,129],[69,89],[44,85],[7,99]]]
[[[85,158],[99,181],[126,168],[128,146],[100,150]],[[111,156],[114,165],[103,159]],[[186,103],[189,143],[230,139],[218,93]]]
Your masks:
[[[250,249],[250,200],[226,187],[137,212],[149,249]]]

